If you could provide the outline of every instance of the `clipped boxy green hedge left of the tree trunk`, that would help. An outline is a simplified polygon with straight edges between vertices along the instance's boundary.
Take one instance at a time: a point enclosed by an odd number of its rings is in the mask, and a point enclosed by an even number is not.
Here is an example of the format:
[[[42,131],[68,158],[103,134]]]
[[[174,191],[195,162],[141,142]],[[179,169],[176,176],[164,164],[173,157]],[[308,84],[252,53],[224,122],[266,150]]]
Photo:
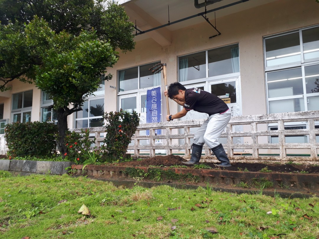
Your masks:
[[[51,156],[56,152],[55,137],[58,132],[54,123],[11,123],[5,127],[8,155],[12,157]]]

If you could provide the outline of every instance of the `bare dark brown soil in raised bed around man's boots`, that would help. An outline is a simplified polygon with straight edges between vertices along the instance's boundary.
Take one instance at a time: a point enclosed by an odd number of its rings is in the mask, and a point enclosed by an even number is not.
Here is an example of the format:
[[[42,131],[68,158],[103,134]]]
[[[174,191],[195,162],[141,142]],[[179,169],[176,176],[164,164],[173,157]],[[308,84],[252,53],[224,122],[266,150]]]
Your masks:
[[[177,155],[167,155],[167,156],[155,156],[152,158],[145,158],[139,161],[133,160],[129,162],[117,163],[118,166],[173,166],[173,165],[183,165],[182,162],[187,161]],[[214,163],[205,163],[211,168],[216,168]],[[319,166],[314,165],[297,165],[297,164],[277,164],[277,163],[232,163],[231,167],[221,168],[222,170],[229,171],[250,171],[258,172],[263,168],[267,167],[268,170],[272,172],[282,172],[282,173],[299,173],[301,171],[308,173],[319,173]],[[219,167],[217,167],[219,168]]]

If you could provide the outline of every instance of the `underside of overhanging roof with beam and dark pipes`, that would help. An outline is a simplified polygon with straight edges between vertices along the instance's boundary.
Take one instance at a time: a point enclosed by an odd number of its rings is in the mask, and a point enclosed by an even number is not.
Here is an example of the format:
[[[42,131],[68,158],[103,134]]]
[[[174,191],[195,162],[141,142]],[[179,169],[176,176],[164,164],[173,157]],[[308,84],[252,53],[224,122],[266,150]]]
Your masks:
[[[217,11],[210,12],[206,17],[214,25],[215,14],[217,19],[218,29],[218,18],[224,17],[236,12],[244,11],[250,8],[254,8],[259,5],[268,4],[278,0],[249,0],[240,4],[222,8],[223,6],[234,4],[239,0],[222,0],[213,4],[209,4],[206,7],[207,11],[213,9],[219,9]],[[203,3],[204,0],[198,0],[199,3]],[[205,8],[196,8],[194,0],[120,0],[119,4],[125,7],[130,20],[136,22],[136,27],[140,31],[150,30],[162,25],[167,25],[168,21],[174,22],[190,16],[203,13]],[[152,30],[142,35],[136,36],[135,40],[143,40],[152,38],[158,42],[161,46],[166,46],[171,43],[171,32],[182,29],[187,26],[192,26],[206,22],[201,16],[190,18],[187,20],[179,21],[173,25],[167,25],[165,27]],[[207,24],[207,23],[206,23]],[[217,32],[212,29],[212,35]],[[222,32],[222,29],[218,29]],[[139,33],[139,31],[137,31]]]

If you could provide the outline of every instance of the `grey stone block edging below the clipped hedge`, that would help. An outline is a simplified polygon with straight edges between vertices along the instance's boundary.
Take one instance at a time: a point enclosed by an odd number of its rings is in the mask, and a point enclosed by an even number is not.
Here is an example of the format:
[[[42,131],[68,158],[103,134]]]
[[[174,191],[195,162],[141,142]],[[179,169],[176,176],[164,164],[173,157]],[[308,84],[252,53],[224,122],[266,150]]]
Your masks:
[[[50,172],[50,174],[61,175],[68,173],[65,168],[70,167],[71,164],[71,162],[1,159],[0,170],[39,174]]]

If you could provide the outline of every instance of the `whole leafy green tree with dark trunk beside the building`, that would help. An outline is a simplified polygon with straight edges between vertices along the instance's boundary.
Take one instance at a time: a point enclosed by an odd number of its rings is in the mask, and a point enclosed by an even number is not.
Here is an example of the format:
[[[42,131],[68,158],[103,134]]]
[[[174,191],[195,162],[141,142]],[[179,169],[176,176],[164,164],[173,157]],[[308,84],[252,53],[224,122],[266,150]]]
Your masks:
[[[102,0],[0,0],[0,90],[14,79],[52,96],[58,148],[66,152],[67,116],[82,110],[118,52],[134,48],[122,6]]]

